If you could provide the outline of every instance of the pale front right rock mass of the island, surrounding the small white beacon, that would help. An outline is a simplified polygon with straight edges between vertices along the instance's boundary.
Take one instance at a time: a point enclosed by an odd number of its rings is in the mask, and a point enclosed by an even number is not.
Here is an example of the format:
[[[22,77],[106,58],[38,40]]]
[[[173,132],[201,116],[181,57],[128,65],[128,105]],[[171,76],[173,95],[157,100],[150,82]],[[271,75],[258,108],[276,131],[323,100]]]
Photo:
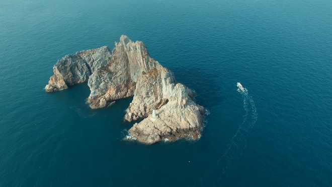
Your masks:
[[[187,136],[196,139],[201,134],[205,108],[197,105],[193,96],[188,87],[176,82],[167,68],[160,66],[144,72],[125,115],[128,121],[145,118],[129,130],[132,138],[147,144]],[[152,109],[159,116],[155,121],[148,117]]]

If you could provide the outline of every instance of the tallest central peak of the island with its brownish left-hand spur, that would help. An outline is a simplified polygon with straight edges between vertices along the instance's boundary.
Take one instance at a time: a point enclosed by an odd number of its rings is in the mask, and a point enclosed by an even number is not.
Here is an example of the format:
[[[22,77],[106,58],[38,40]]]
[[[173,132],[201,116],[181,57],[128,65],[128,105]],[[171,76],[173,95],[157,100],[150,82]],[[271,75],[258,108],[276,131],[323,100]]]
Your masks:
[[[113,100],[133,96],[142,72],[160,66],[150,57],[143,42],[133,42],[125,35],[115,42],[112,52],[108,64],[94,72],[88,82],[91,108],[102,108]]]

